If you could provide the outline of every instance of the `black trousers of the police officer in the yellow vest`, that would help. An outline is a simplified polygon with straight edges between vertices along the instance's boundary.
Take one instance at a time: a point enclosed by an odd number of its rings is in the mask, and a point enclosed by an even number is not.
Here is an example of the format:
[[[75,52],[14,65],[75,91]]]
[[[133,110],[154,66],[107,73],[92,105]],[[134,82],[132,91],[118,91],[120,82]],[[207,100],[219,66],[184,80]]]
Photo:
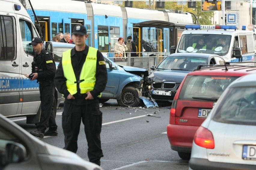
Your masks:
[[[65,136],[64,149],[77,152],[78,134],[81,120],[84,124],[84,132],[88,144],[88,158],[90,162],[96,162],[103,157],[100,141],[102,126],[102,112],[99,110],[99,103],[89,105],[75,105],[64,102],[62,113],[62,129]]]

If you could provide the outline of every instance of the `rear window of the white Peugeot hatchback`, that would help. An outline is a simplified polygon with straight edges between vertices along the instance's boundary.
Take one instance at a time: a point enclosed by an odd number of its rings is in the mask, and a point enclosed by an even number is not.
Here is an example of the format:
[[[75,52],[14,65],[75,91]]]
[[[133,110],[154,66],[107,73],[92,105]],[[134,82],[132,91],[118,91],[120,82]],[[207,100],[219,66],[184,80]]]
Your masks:
[[[256,88],[230,88],[221,99],[213,120],[217,122],[256,125]]]

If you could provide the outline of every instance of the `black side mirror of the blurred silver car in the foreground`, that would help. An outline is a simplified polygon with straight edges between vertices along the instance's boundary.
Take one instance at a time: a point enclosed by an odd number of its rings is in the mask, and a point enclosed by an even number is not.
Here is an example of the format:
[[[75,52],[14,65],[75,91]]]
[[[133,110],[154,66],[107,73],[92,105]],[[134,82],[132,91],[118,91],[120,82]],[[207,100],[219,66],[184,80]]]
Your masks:
[[[26,148],[20,143],[7,143],[5,151],[2,152],[2,164],[7,165],[10,163],[22,162],[27,157]]]

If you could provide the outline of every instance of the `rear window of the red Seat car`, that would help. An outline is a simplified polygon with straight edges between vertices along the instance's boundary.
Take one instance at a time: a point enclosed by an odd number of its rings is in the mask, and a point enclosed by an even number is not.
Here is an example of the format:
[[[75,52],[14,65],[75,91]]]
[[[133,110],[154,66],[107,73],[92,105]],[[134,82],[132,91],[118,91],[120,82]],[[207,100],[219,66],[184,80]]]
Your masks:
[[[188,75],[178,99],[217,101],[227,86],[237,78],[233,76]]]

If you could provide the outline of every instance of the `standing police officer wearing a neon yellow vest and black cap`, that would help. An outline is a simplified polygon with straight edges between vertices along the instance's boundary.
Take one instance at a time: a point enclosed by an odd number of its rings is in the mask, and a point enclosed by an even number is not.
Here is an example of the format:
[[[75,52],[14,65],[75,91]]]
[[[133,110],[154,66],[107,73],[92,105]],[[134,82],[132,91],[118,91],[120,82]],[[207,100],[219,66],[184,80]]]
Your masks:
[[[82,120],[89,161],[100,165],[100,158],[103,157],[100,140],[102,112],[98,97],[105,89],[108,76],[101,52],[85,44],[87,36],[84,25],[73,28],[75,48],[63,52],[54,82],[65,97],[62,113],[64,149],[77,152]]]

